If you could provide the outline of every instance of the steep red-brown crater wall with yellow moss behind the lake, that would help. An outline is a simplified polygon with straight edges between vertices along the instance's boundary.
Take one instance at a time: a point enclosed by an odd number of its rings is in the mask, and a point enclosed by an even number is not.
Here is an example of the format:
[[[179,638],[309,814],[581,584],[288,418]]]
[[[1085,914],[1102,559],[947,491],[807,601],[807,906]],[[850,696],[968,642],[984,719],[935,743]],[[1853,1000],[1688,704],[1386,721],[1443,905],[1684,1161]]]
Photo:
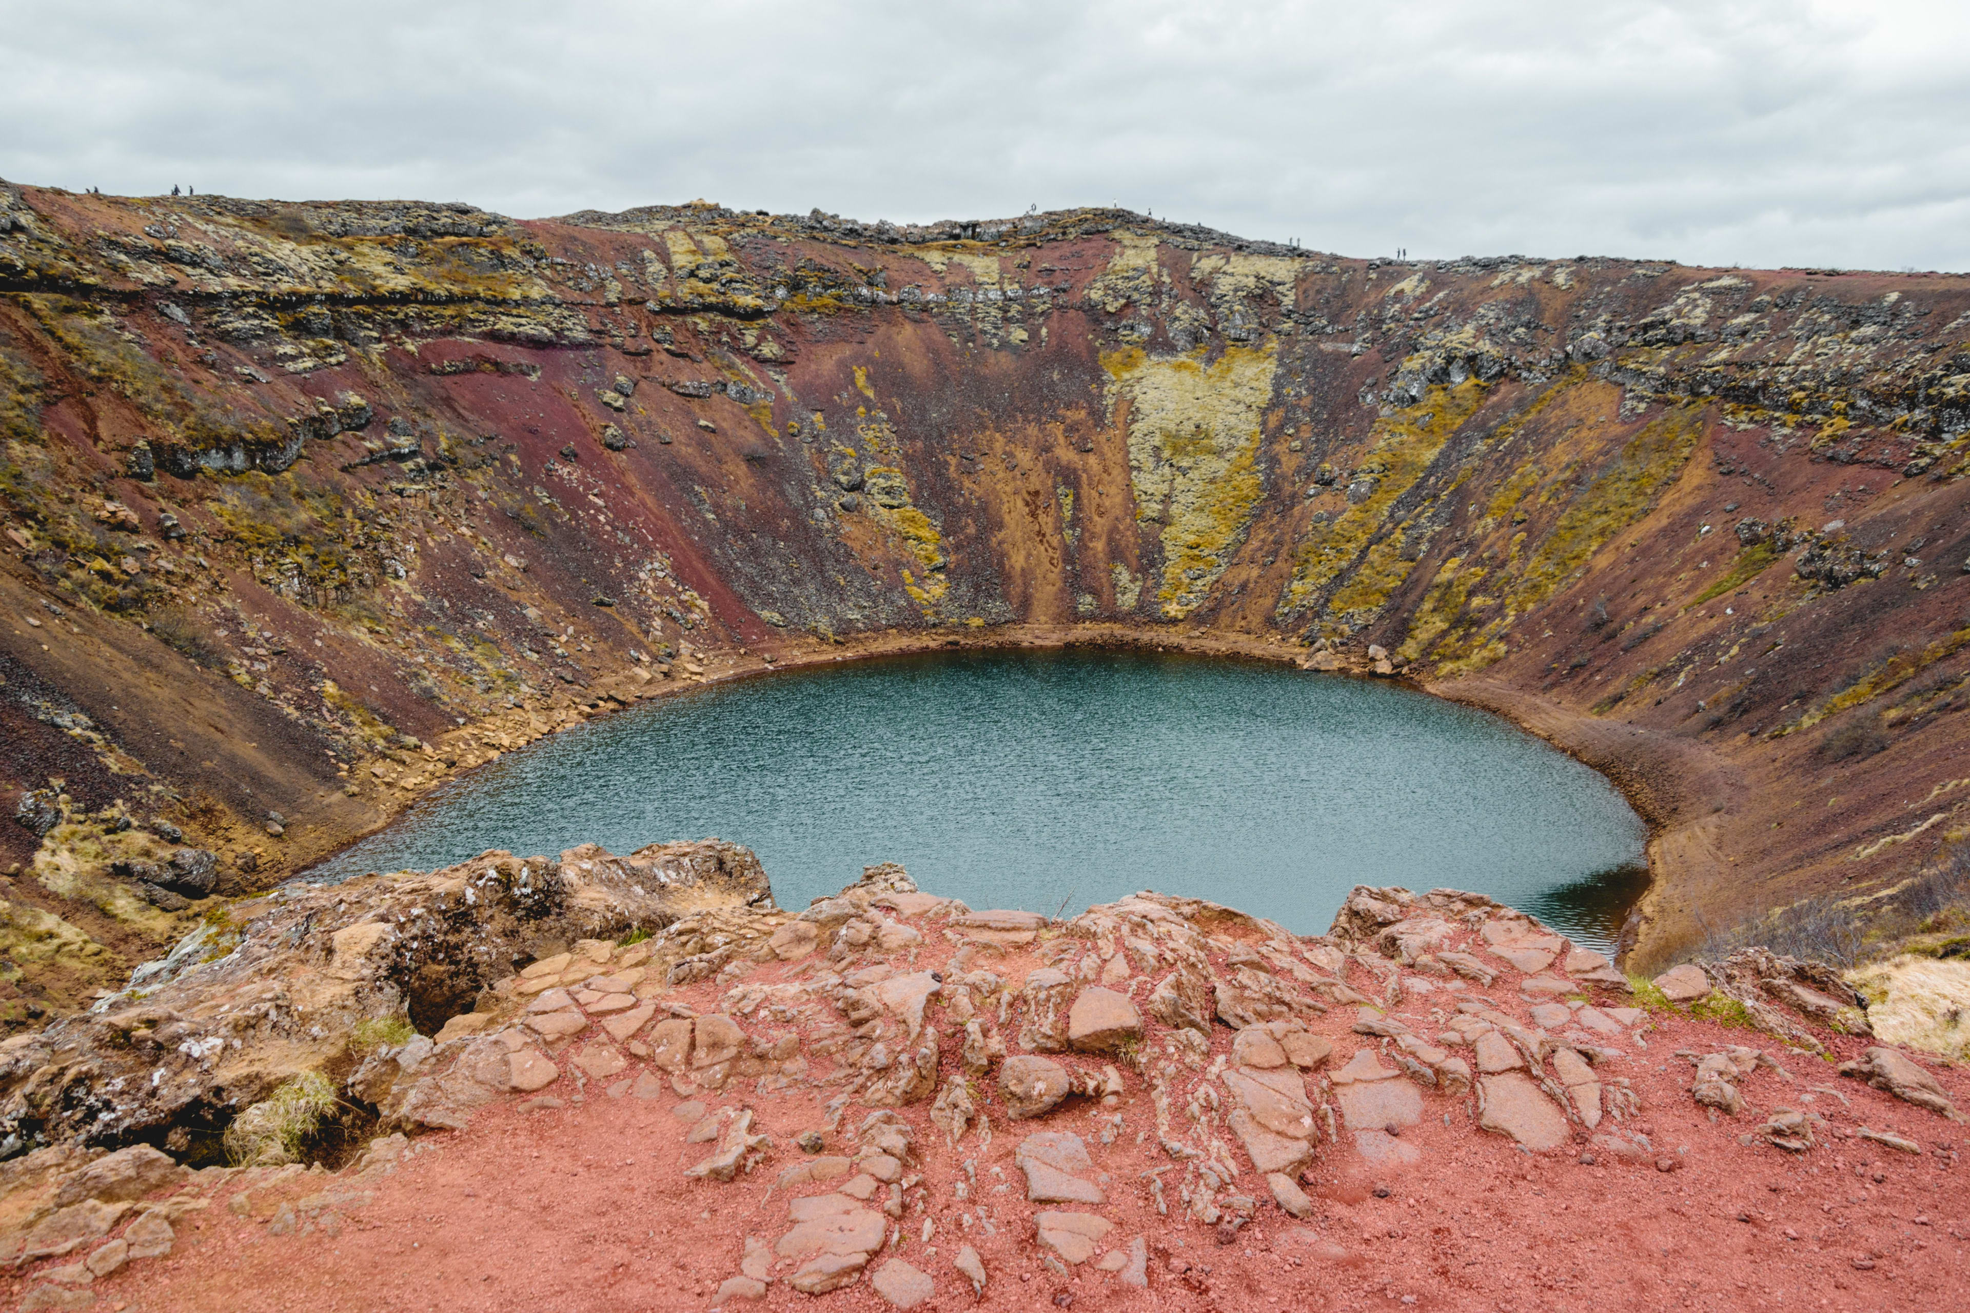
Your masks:
[[[766,659],[1385,648],[1649,815],[1641,965],[1970,797],[1960,278],[0,187],[0,291],[16,1020]]]

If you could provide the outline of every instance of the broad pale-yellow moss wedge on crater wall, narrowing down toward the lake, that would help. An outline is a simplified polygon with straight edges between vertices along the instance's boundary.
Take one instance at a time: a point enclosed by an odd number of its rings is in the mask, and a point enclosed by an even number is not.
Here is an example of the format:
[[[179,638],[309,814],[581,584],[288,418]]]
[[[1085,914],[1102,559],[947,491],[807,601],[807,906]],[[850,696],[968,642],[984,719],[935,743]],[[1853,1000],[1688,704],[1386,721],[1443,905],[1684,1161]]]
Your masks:
[[[1265,478],[1261,417],[1273,394],[1275,344],[1149,358],[1105,352],[1107,413],[1129,404],[1129,478],[1137,520],[1162,526],[1162,614],[1180,620],[1204,604],[1245,539]]]

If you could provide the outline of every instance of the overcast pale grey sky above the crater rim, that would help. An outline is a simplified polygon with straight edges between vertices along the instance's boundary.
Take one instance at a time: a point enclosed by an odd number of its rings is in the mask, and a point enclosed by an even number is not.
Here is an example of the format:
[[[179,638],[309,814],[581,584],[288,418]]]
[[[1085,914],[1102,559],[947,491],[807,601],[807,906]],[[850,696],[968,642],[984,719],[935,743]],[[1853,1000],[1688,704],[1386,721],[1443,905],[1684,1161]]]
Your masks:
[[[1970,268],[1970,6],[0,0],[0,177]]]

